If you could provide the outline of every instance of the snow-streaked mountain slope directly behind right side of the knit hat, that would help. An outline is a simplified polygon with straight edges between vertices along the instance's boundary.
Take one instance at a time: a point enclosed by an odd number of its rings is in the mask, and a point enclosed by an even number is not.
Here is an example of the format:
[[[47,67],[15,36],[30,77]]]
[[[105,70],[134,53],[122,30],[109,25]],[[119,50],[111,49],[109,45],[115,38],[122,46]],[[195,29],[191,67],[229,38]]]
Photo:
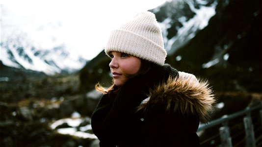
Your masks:
[[[151,10],[160,22],[168,54],[183,47],[208,25],[216,5],[215,0],[172,0]]]

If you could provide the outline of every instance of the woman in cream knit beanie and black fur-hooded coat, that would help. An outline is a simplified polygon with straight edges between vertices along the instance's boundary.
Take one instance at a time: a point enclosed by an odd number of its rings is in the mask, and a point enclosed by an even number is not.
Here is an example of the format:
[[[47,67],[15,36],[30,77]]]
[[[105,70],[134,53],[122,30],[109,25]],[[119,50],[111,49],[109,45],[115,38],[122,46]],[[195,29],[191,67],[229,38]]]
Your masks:
[[[156,17],[142,12],[114,30],[105,47],[113,85],[91,124],[101,147],[195,147],[200,120],[214,102],[206,82],[164,64],[166,51]]]

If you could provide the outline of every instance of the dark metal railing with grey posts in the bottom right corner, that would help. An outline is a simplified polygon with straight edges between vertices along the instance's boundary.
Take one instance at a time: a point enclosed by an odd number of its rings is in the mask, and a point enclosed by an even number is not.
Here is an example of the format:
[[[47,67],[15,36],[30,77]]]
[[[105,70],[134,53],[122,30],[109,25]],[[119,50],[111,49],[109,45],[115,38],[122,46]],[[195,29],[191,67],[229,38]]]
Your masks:
[[[201,140],[204,132],[208,137]],[[262,146],[262,103],[200,124],[197,133],[201,147]]]

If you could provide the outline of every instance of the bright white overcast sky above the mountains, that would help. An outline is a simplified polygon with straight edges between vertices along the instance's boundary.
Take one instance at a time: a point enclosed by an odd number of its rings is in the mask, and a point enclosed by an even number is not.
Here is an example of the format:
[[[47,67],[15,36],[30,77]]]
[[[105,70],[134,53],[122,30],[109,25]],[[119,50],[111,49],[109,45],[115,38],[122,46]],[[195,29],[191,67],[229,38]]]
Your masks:
[[[1,0],[0,3],[12,14],[9,16],[12,23],[18,23],[42,47],[52,46],[50,38],[55,38],[56,44],[65,44],[90,60],[105,47],[111,30],[137,12],[153,9],[164,1]],[[42,32],[36,31],[41,25]],[[56,29],[50,29],[50,25]]]

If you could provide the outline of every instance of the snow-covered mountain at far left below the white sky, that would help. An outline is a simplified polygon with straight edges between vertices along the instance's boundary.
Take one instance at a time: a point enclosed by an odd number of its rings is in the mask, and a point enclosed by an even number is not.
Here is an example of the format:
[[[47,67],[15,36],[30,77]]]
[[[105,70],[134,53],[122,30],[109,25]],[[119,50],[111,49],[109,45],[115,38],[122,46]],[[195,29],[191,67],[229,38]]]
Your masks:
[[[84,66],[85,59],[54,35],[60,31],[61,24],[39,25],[35,21],[41,20],[33,17],[15,20],[17,17],[13,15],[1,5],[0,61],[3,65],[46,74],[71,73]],[[33,31],[25,31],[28,29]]]

